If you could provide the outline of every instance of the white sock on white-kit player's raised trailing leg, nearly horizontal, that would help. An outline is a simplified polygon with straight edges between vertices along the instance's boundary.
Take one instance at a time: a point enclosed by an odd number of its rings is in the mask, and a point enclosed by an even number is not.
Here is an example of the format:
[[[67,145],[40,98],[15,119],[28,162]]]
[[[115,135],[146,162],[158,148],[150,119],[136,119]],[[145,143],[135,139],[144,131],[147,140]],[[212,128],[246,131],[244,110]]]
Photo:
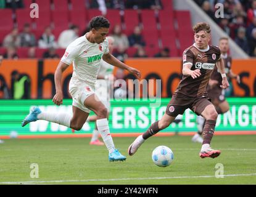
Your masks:
[[[51,123],[57,123],[66,127],[70,127],[72,116],[70,116],[69,113],[52,113],[42,111],[42,113],[39,113],[38,119],[43,119]]]

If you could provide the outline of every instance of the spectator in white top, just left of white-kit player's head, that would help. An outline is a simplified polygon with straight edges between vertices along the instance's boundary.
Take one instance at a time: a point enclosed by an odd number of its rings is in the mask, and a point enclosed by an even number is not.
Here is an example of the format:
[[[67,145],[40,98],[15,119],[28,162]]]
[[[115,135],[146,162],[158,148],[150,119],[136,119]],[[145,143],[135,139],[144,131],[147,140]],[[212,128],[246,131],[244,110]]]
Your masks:
[[[58,46],[61,49],[66,49],[67,46],[75,41],[76,38],[79,37],[79,27],[76,25],[71,25],[69,30],[64,30],[60,33],[58,39]]]

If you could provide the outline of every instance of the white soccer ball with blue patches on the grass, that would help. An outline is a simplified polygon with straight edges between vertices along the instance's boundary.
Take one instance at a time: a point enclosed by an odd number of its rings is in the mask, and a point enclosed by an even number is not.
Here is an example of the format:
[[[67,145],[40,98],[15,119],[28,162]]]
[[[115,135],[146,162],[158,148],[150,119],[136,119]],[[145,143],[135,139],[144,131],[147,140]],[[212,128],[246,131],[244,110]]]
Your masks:
[[[165,146],[159,146],[152,152],[152,160],[159,167],[170,166],[173,161],[173,151]]]

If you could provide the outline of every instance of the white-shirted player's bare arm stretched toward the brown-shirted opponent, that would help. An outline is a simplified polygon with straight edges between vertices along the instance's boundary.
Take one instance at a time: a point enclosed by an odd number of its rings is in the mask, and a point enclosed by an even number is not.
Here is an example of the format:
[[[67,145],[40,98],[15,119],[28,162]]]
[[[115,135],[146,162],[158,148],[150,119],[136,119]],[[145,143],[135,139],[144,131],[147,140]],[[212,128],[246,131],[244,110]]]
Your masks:
[[[137,70],[136,68],[132,68],[132,67],[126,65],[125,63],[123,63],[120,60],[118,60],[117,58],[115,58],[113,55],[104,54],[102,58],[105,62],[109,63],[110,65],[117,66],[118,68],[128,70],[129,73],[135,74],[138,78],[141,78],[141,71]]]

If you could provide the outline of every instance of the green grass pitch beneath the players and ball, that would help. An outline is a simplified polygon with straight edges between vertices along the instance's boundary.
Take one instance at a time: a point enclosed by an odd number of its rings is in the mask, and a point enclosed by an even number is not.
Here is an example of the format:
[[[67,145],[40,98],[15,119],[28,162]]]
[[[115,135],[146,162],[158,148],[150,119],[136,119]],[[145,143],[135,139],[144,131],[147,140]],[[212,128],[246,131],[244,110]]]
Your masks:
[[[134,137],[116,137],[115,145],[127,156]],[[110,163],[105,147],[84,139],[11,139],[0,145],[0,184],[256,184],[256,135],[217,135],[212,147],[218,158],[199,158],[199,143],[191,136],[151,137],[125,162]],[[152,162],[155,147],[166,145],[174,153],[168,167]],[[31,179],[32,163],[39,178]],[[216,164],[224,177],[216,178]]]

